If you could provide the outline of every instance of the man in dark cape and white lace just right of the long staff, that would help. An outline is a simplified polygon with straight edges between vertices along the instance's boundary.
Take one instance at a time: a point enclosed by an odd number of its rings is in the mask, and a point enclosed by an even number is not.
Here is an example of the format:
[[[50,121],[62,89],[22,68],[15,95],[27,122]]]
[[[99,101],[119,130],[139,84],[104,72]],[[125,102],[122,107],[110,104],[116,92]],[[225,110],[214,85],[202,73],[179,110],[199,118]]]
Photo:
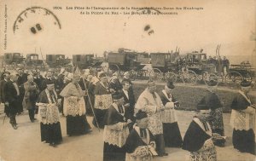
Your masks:
[[[99,128],[104,127],[103,118],[108,110],[108,107],[112,105],[112,96],[109,89],[109,83],[107,75],[102,72],[99,74],[100,81],[96,83],[94,89],[95,95],[95,114],[96,118],[93,119],[93,124],[97,127],[96,121],[98,122]]]

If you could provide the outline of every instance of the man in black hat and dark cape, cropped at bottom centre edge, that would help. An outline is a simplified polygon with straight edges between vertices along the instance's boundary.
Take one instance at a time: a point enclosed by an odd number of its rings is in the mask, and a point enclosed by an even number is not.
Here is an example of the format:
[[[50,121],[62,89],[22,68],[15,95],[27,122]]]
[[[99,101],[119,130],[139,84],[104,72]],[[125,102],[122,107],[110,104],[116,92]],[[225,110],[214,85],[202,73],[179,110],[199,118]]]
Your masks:
[[[147,129],[148,115],[146,112],[139,111],[136,114],[137,124],[125,141],[126,161],[150,161],[153,155],[155,142],[154,135]]]

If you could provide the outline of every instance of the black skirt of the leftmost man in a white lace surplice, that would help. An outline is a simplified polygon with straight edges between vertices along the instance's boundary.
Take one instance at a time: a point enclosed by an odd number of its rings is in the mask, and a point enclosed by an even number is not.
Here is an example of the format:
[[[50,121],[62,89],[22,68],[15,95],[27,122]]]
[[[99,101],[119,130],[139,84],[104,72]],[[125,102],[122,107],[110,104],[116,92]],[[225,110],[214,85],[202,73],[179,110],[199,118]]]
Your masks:
[[[60,122],[55,124],[40,124],[41,129],[41,141],[47,143],[60,143],[62,141],[61,124]]]

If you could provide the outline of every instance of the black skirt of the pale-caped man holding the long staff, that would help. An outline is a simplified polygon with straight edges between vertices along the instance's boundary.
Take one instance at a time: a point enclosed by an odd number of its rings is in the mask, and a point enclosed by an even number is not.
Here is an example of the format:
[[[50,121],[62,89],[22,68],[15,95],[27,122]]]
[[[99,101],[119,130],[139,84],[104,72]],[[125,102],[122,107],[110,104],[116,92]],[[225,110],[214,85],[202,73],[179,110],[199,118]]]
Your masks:
[[[87,122],[86,116],[67,116],[67,135],[83,135],[88,133],[90,124]]]

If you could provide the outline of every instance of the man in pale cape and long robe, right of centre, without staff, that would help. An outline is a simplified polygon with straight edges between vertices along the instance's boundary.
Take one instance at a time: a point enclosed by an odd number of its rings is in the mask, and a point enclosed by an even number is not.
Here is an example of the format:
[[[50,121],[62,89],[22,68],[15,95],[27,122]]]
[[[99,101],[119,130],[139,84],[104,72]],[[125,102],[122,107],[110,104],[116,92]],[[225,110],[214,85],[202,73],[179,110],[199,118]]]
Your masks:
[[[148,81],[148,87],[143,91],[137,100],[135,114],[140,110],[148,115],[148,129],[152,132],[156,142],[156,152],[160,157],[168,155],[165,150],[165,141],[163,136],[163,124],[161,111],[165,107],[160,96],[155,92],[156,85],[154,81]]]

